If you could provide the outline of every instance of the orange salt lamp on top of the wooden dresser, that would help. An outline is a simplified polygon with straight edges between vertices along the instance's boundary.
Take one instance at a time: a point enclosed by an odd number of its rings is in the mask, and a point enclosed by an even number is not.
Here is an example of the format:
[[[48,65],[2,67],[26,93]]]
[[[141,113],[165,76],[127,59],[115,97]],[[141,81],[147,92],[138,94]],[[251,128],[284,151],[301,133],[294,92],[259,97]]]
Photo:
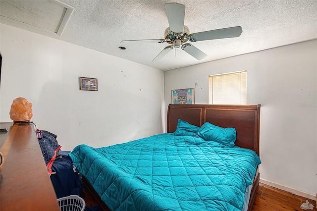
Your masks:
[[[32,104],[25,98],[16,98],[13,100],[10,110],[10,119],[14,122],[30,121],[33,116]]]

